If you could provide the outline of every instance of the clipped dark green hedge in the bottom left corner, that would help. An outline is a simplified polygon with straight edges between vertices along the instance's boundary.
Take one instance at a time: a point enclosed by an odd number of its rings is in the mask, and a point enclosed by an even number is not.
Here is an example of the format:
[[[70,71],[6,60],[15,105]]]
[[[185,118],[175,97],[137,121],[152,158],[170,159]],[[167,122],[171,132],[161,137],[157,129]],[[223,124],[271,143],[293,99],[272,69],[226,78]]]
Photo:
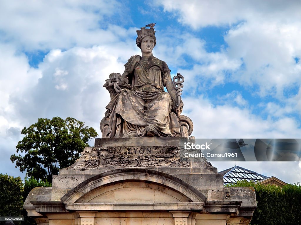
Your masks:
[[[24,186],[20,177],[0,174],[0,215],[22,216]]]

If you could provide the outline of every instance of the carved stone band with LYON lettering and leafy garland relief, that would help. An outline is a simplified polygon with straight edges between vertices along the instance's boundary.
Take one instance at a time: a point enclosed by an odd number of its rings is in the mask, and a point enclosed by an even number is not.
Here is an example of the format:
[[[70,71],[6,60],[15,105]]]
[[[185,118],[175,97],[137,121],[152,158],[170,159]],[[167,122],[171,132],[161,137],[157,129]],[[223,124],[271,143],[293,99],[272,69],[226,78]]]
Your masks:
[[[189,159],[180,158],[181,151],[176,146],[86,148],[72,167],[191,167]]]

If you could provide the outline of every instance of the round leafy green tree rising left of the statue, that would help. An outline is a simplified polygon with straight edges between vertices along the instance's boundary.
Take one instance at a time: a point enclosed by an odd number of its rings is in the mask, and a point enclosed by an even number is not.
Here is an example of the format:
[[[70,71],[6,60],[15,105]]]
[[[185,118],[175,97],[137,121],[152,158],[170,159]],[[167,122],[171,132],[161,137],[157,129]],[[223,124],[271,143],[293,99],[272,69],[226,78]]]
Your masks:
[[[49,183],[59,168],[72,165],[89,146],[88,142],[98,135],[94,128],[70,117],[40,118],[29,128],[23,128],[21,134],[25,137],[16,148],[26,154],[11,155],[11,161],[16,162],[21,172],[26,170],[29,177]]]

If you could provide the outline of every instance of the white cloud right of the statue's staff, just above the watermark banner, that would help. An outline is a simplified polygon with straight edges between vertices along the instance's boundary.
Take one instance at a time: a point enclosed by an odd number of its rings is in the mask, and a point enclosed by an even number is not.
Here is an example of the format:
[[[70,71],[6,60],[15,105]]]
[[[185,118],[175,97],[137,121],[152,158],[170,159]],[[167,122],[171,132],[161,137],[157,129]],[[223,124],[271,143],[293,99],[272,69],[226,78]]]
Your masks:
[[[183,115],[194,122],[197,138],[298,138],[298,123],[289,117],[262,119],[248,108],[214,106],[202,96],[183,99]]]

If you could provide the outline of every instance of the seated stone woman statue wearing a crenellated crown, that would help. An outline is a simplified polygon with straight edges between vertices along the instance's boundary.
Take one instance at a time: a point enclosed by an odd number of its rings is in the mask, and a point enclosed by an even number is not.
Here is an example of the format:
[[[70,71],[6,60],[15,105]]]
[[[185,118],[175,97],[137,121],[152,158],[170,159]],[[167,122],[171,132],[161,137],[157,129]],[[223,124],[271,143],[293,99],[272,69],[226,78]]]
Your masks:
[[[141,56],[134,55],[125,64],[122,75],[111,73],[104,86],[129,81],[129,89],[120,89],[107,105],[101,120],[103,138],[113,137],[179,137],[176,90],[170,70],[164,61],[153,56],[156,46],[154,28],[137,30],[137,46]],[[166,90],[164,91],[164,87]],[[107,88],[108,89],[108,88]]]

